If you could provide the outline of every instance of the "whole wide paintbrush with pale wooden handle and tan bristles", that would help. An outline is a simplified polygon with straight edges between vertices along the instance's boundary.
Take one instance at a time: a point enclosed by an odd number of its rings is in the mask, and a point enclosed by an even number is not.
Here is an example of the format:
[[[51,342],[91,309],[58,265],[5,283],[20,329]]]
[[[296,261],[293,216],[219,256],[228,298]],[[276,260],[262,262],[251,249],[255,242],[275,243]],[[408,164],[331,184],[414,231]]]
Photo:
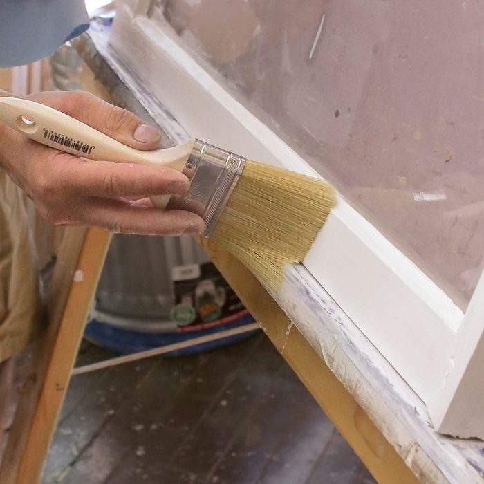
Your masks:
[[[0,121],[49,147],[91,160],[164,165],[190,180],[182,198],[152,197],[164,209],[199,214],[204,237],[221,244],[268,288],[277,290],[286,264],[303,261],[335,205],[324,180],[246,160],[189,140],[139,151],[44,104],[0,97]]]

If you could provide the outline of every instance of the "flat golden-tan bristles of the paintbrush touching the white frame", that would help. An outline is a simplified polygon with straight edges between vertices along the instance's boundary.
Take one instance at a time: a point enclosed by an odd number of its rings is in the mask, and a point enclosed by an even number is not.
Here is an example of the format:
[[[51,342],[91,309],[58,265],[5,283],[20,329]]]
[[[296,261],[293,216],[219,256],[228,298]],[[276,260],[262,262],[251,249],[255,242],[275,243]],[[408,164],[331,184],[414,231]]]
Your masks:
[[[248,161],[211,239],[277,290],[284,266],[304,259],[334,205],[328,183]]]

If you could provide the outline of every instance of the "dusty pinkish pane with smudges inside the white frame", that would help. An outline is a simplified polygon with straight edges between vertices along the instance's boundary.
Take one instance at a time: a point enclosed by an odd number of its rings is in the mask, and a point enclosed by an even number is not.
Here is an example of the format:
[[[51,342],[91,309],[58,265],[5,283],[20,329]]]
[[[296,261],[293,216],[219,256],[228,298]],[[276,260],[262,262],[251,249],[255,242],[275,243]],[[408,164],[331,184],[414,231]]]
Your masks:
[[[151,15],[467,306],[484,252],[481,3],[166,0]]]

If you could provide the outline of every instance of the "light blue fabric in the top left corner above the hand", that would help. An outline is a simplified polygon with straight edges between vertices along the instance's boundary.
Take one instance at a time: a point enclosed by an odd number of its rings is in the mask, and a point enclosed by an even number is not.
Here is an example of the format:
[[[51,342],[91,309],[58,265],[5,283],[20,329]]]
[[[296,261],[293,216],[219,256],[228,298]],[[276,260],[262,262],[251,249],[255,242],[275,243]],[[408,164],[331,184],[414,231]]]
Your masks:
[[[42,59],[88,27],[84,0],[0,0],[0,67]]]

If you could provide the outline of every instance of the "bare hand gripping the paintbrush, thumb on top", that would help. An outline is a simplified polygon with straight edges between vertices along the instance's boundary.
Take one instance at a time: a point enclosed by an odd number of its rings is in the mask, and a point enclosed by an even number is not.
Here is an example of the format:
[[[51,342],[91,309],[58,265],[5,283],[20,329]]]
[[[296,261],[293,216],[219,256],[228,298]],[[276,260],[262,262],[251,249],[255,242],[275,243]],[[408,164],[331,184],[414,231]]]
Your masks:
[[[10,95],[0,91],[0,95]],[[160,133],[135,115],[83,91],[27,97],[51,106],[136,149],[156,149]],[[177,235],[204,230],[203,219],[183,210],[163,212],[149,196],[182,195],[185,175],[167,167],[92,161],[29,140],[0,123],[0,167],[39,214],[56,225],[91,225],[124,234]]]

